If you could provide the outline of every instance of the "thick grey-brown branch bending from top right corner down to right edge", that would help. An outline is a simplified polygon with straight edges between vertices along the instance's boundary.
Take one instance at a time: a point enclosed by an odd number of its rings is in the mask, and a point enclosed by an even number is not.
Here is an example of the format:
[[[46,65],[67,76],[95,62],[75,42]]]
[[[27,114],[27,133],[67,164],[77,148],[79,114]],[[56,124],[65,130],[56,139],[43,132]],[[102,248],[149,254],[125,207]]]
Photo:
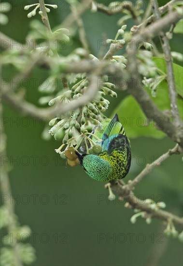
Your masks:
[[[132,94],[135,99],[140,103],[142,110],[149,119],[154,119],[157,126],[171,138],[179,143],[183,147],[183,132],[182,129],[175,129],[174,125],[170,122],[169,117],[162,113],[156,106],[155,103],[150,99],[148,93],[142,86],[139,85],[140,76],[138,74],[138,65],[136,60],[137,43],[140,40],[146,40],[147,38],[153,38],[156,33],[164,29],[169,24],[176,23],[182,15],[177,11],[171,12],[163,18],[159,19],[152,25],[146,27],[139,34],[135,34],[131,39],[131,46],[127,49],[127,60],[128,60],[128,73],[130,79],[128,82],[127,91]],[[160,123],[160,120],[163,123]],[[177,131],[175,133],[175,131]]]

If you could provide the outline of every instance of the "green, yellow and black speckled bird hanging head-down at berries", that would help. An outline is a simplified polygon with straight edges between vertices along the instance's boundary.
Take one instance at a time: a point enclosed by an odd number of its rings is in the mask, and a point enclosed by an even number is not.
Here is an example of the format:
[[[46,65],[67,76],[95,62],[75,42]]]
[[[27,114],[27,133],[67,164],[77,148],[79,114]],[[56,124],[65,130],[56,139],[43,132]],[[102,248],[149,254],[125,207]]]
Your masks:
[[[131,147],[118,115],[107,123],[101,137],[99,129],[94,133],[102,139],[97,144],[101,147],[99,154],[75,151],[86,174],[101,182],[126,177],[131,165]]]

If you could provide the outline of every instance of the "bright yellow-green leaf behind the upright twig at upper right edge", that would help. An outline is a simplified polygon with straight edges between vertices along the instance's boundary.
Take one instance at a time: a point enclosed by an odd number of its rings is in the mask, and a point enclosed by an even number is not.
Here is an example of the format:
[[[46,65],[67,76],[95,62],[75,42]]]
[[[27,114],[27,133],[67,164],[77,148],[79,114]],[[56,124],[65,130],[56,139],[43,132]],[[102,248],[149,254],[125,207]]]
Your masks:
[[[166,62],[164,58],[153,57],[153,61],[155,62],[157,68],[164,73],[167,73]],[[176,86],[175,89],[177,93],[183,97],[183,67],[173,63],[173,72]],[[160,83],[160,86],[162,86],[162,83]]]

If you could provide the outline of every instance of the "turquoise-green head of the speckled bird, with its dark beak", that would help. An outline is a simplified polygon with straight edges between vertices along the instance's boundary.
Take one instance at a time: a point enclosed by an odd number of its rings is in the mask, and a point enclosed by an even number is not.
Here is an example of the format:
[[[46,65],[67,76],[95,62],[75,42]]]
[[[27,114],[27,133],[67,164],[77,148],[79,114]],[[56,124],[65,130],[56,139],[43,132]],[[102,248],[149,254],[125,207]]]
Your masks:
[[[98,155],[75,152],[85,172],[98,181],[108,181],[112,175],[110,163]]]

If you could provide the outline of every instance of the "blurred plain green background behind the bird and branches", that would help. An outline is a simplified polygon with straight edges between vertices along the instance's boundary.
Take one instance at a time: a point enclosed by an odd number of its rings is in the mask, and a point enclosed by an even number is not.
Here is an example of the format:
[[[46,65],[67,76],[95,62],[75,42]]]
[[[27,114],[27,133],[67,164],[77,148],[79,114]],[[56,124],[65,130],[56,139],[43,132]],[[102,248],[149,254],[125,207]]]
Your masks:
[[[28,19],[28,12],[23,8],[36,1],[9,2],[13,4],[7,14],[9,23],[2,26],[1,31],[23,42],[32,19]],[[108,4],[110,1],[102,2]],[[159,4],[166,2],[159,1]],[[70,13],[66,1],[45,3],[58,5],[57,10],[48,14],[51,27],[60,24]],[[98,40],[103,36],[114,38],[119,28],[116,22],[121,15],[107,16],[86,11],[82,17],[91,53],[98,56]],[[39,15],[34,18],[41,20]],[[128,29],[132,25],[134,22],[131,20]],[[170,44],[173,51],[181,52],[182,36],[176,34]],[[69,54],[77,46],[81,44],[76,35],[63,54]],[[8,66],[2,73],[4,78],[11,77],[14,69]],[[35,69],[31,77],[41,80],[47,75],[46,71]],[[38,104],[40,95],[36,88],[27,88],[28,101]],[[111,101],[107,116],[125,96],[118,92],[117,100]],[[74,168],[66,166],[55,152],[60,142],[53,137],[47,142],[42,140],[44,123],[19,116],[6,103],[3,117],[7,154],[12,165],[10,182],[13,196],[17,198],[15,211],[21,225],[27,224],[32,230],[29,243],[36,250],[34,266],[182,265],[182,245],[177,239],[163,236],[162,222],[154,219],[148,225],[139,218],[136,224],[131,224],[134,212],[125,208],[124,202],[118,199],[109,202],[104,183],[90,179],[79,165]],[[146,163],[152,162],[152,158],[156,159],[173,147],[174,143],[169,138],[131,139],[133,161],[124,181],[136,177]],[[173,155],[143,179],[135,190],[136,195],[141,199],[164,201],[168,211],[181,216],[181,164],[181,156]]]

